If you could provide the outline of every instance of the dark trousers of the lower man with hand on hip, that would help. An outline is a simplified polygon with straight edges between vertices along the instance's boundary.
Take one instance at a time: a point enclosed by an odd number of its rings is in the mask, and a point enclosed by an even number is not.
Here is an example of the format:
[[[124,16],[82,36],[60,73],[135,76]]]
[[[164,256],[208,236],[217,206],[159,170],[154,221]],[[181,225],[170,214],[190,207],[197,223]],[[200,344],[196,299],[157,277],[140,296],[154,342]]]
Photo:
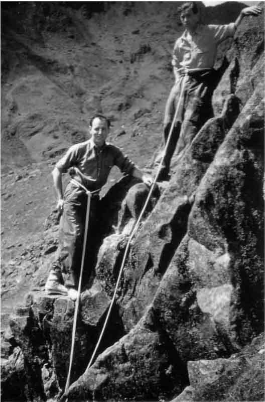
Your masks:
[[[62,273],[67,287],[78,286],[84,242],[87,195],[69,183],[64,193],[64,208],[60,219],[59,245],[53,270]],[[84,274],[89,276],[93,263],[94,246],[96,242],[96,226],[98,220],[99,197],[92,196],[90,200],[89,226],[84,260]]]

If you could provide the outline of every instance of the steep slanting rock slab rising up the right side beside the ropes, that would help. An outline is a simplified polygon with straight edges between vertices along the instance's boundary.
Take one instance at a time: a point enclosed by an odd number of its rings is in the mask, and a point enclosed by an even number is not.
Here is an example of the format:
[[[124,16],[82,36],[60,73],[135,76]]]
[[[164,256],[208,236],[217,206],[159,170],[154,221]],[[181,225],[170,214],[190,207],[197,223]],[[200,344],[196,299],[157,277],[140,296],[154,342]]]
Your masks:
[[[173,378],[169,394],[187,381],[183,363],[217,359],[217,367],[220,358],[262,331],[263,32],[257,26],[261,23],[242,25],[214,95],[218,103],[219,93],[227,91],[222,113],[205,124],[181,159],[173,157],[169,187],[131,246],[117,300],[129,332],[72,384],[73,398],[130,397],[124,370],[129,366],[131,383],[140,383],[140,369],[147,378],[138,366],[147,336],[156,345],[163,334],[176,354],[172,369],[165,368]],[[246,85],[249,80],[252,86]],[[108,262],[100,259],[96,269],[101,263],[108,271]],[[144,320],[154,327],[152,334]],[[134,360],[117,362],[124,345],[134,342]],[[157,394],[163,393],[166,380],[159,373],[162,356],[144,355],[146,366],[158,368],[156,377],[137,388],[138,397],[148,398],[148,386],[160,381]]]

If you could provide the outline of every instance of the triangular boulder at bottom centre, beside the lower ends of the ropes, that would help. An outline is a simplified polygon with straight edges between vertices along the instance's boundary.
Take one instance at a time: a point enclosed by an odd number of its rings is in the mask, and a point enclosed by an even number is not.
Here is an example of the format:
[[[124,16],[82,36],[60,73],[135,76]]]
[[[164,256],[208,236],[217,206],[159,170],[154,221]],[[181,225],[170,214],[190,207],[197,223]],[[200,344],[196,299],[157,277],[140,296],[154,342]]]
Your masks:
[[[69,398],[156,398],[168,396],[172,389],[180,392],[187,381],[187,370],[172,343],[148,317],[98,357],[70,387]]]

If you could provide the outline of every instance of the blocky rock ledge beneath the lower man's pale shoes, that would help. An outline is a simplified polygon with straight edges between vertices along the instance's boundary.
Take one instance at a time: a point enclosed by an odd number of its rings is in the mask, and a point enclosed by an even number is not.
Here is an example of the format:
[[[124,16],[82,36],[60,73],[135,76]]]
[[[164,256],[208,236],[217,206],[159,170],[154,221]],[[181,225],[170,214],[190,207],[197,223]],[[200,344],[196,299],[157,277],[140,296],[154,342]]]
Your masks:
[[[71,381],[86,369],[109,303],[98,282],[82,293]],[[3,350],[6,344],[7,347],[1,365],[3,397],[45,400],[60,395],[69,369],[73,320],[74,302],[68,297],[29,293],[25,305],[10,316],[10,328],[4,337]],[[99,352],[124,334],[114,309],[108,331]]]

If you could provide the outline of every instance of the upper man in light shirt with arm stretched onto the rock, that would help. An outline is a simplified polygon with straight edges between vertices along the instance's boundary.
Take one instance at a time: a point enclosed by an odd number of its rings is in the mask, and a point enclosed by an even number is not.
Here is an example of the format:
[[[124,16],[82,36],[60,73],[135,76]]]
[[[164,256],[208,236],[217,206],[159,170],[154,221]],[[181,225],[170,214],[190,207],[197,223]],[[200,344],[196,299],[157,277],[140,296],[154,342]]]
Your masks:
[[[228,25],[200,24],[197,2],[188,2],[180,8],[180,19],[185,28],[177,39],[173,50],[173,71],[175,84],[169,94],[164,118],[164,147],[171,125],[174,127],[169,145],[156,158],[158,166],[163,158],[159,180],[169,178],[170,161],[174,154],[180,154],[191,143],[203,124],[213,117],[211,97],[215,86],[217,46],[233,37],[238,25],[245,16],[257,16],[261,8],[247,7],[240,12],[234,23]],[[176,112],[176,108],[178,109]]]

